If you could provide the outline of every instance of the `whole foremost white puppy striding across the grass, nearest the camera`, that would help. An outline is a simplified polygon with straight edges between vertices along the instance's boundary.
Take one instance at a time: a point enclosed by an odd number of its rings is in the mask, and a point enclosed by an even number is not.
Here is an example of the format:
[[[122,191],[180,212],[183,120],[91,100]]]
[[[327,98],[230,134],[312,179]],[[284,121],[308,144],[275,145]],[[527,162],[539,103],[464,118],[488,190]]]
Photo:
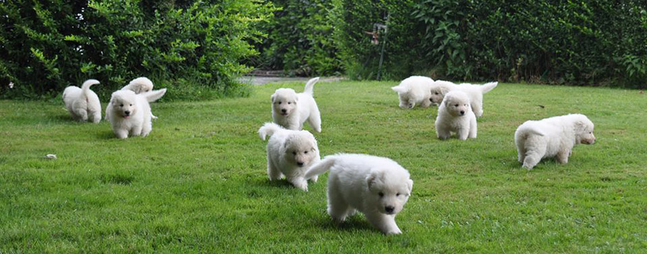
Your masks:
[[[382,233],[402,233],[395,216],[407,203],[414,185],[407,170],[384,157],[335,154],[312,165],[306,178],[328,169],[328,214],[333,220],[343,222],[357,210]]]

